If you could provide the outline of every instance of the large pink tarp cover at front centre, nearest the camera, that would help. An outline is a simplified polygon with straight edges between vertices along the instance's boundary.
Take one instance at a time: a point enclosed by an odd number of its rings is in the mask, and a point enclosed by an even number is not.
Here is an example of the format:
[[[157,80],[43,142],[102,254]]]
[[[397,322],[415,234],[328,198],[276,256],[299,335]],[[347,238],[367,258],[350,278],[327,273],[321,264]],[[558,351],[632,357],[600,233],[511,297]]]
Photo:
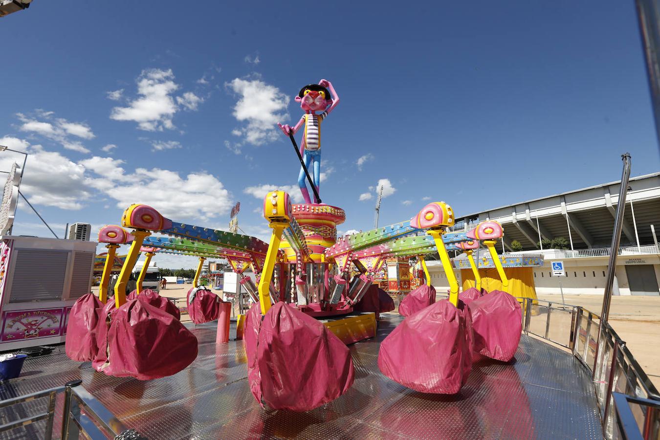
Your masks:
[[[348,347],[323,324],[278,302],[261,319],[246,317],[244,336],[250,391],[263,406],[308,411],[335,400],[353,383]]]

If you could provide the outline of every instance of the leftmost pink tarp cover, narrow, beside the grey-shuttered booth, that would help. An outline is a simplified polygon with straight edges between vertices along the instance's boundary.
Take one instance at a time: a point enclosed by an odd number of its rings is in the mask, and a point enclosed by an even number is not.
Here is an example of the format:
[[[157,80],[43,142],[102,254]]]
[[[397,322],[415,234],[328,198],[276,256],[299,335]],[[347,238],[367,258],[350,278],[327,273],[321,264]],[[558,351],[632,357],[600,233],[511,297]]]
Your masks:
[[[96,327],[104,304],[94,296],[85,294],[78,298],[69,312],[65,350],[70,359],[84,362],[94,359],[98,352]]]

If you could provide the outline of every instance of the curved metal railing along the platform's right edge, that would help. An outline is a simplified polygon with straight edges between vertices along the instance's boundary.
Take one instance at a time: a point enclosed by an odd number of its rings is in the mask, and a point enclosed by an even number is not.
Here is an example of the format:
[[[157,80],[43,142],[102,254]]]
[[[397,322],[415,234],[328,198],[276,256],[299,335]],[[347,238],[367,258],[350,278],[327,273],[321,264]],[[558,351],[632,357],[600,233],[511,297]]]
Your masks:
[[[523,308],[525,334],[533,334],[568,348],[591,372],[605,437],[659,438],[657,435],[634,437],[630,426],[626,431],[620,428],[622,420],[619,410],[614,408],[614,394],[660,404],[660,393],[632,356],[626,342],[621,340],[609,323],[603,323],[599,338],[599,315],[583,307],[531,298],[518,298],[518,301]],[[629,409],[634,414],[638,433],[651,432],[649,426],[660,425],[660,412],[642,410],[640,405]],[[630,422],[626,423],[629,425]]]

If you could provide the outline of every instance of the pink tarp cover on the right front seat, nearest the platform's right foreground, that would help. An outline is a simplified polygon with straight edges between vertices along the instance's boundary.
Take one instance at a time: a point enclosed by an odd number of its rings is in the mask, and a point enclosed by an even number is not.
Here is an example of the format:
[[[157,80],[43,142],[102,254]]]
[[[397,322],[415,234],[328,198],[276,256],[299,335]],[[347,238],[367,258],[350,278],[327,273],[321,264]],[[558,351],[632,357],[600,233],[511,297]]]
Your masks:
[[[378,367],[422,393],[455,394],[472,369],[469,309],[442,299],[407,317],[380,344]]]

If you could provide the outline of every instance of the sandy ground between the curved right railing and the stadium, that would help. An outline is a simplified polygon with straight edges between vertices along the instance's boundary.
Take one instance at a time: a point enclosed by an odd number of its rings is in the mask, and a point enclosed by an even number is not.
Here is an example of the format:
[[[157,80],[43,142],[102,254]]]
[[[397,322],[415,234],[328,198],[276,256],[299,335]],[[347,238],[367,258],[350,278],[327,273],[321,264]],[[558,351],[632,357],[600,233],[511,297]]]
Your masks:
[[[603,309],[601,295],[566,295],[567,304],[581,305],[597,315]],[[541,295],[545,301],[562,302],[560,295]],[[626,341],[632,356],[660,389],[660,296],[614,296],[610,324]]]

